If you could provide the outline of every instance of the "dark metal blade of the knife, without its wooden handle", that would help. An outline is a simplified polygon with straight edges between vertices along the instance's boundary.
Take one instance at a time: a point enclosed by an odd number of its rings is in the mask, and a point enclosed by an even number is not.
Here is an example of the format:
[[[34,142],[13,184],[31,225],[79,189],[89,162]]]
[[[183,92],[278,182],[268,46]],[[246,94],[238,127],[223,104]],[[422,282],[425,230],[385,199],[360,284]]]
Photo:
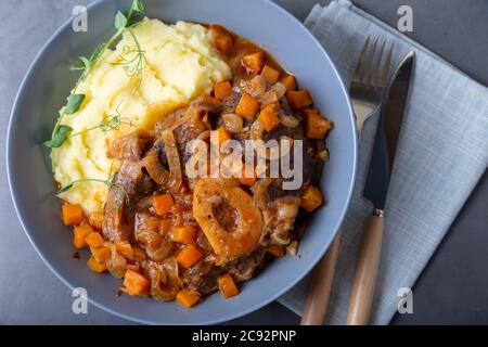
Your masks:
[[[399,63],[382,106],[363,196],[376,213],[385,209],[389,177],[395,163],[398,138],[403,123],[404,106],[409,94],[414,52],[409,52]]]

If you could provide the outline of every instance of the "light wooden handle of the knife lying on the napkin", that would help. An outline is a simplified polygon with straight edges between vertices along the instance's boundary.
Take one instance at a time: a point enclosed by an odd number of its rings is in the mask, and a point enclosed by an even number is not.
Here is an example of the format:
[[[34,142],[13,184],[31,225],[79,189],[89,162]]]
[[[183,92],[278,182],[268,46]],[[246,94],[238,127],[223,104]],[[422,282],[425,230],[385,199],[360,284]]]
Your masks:
[[[365,325],[370,321],[380,268],[384,226],[383,211],[370,216],[356,265],[355,282],[347,313],[348,325]]]

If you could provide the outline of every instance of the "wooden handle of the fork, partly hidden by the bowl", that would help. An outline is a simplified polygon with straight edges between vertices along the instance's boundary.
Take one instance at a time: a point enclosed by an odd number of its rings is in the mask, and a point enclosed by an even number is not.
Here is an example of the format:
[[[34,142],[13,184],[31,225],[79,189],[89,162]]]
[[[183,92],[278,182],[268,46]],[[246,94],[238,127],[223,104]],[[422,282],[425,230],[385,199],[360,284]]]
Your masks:
[[[337,232],[332,245],[312,272],[310,285],[301,314],[301,325],[320,325],[323,323],[329,306],[335,267],[341,245],[341,233]]]

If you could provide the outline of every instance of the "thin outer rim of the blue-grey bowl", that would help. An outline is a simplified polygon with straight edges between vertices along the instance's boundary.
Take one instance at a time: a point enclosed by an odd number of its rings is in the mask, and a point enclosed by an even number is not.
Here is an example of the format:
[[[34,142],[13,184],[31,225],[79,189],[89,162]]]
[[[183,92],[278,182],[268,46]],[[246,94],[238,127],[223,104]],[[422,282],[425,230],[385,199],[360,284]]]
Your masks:
[[[106,2],[106,1],[113,1],[113,0],[95,0],[93,2],[91,2],[90,4],[87,5],[87,11],[88,12],[93,12],[97,11],[97,8],[99,8],[102,3]],[[350,180],[350,184],[347,189],[347,200],[346,200],[346,204],[344,206],[344,209],[339,216],[339,218],[337,218],[336,221],[336,226],[335,226],[335,231],[333,232],[333,237],[331,239],[331,241],[329,242],[329,244],[325,244],[322,252],[319,252],[318,255],[313,258],[310,259],[310,261],[308,262],[307,266],[305,266],[304,268],[304,272],[301,272],[298,277],[296,277],[293,281],[290,281],[290,283],[287,285],[285,285],[284,287],[282,287],[280,291],[278,291],[274,295],[270,296],[268,299],[261,300],[255,305],[252,305],[243,310],[240,310],[239,312],[235,313],[231,313],[228,316],[222,316],[221,318],[216,318],[213,320],[205,320],[205,321],[195,321],[192,323],[188,323],[187,325],[190,324],[205,324],[205,325],[210,325],[210,324],[218,324],[218,323],[222,323],[222,322],[228,322],[241,317],[244,317],[246,314],[249,314],[267,305],[269,305],[270,303],[277,300],[280,296],[282,296],[283,294],[285,294],[286,292],[288,292],[293,286],[295,286],[299,281],[301,281],[307,274],[310,273],[310,271],[316,267],[316,265],[319,262],[319,260],[324,256],[325,252],[329,249],[329,247],[331,246],[333,240],[335,239],[335,236],[337,235],[338,230],[341,229],[341,226],[346,217],[347,210],[349,208],[350,205],[350,201],[352,197],[352,190],[354,190],[354,185],[356,182],[356,176],[357,176],[357,166],[358,166],[358,153],[357,153],[357,149],[358,149],[358,138],[357,138],[357,127],[356,127],[356,120],[355,120],[355,113],[354,113],[354,108],[352,108],[352,104],[349,98],[349,92],[344,83],[344,80],[341,76],[341,74],[337,70],[337,67],[335,66],[334,62],[331,60],[331,57],[329,56],[328,52],[325,51],[324,47],[320,43],[320,41],[313,36],[313,34],[304,25],[304,23],[301,23],[298,18],[296,18],[293,14],[291,14],[287,10],[285,10],[284,8],[282,8],[281,5],[279,5],[278,3],[273,2],[272,0],[258,0],[264,2],[265,4],[271,7],[273,9],[273,11],[279,11],[281,12],[282,15],[284,15],[285,17],[287,17],[287,20],[292,21],[295,25],[297,29],[300,29],[305,33],[305,35],[307,35],[311,41],[318,46],[320,52],[322,53],[323,57],[329,62],[330,66],[332,67],[333,73],[336,75],[338,82],[341,85],[341,91],[343,93],[343,95],[346,98],[346,103],[347,103],[347,111],[348,111],[348,116],[350,117],[350,120],[352,123],[352,128],[355,131],[355,136],[352,137],[352,176],[351,176],[351,180]],[[70,283],[67,279],[65,279],[55,268],[55,265],[51,264],[50,260],[47,259],[47,257],[44,256],[44,254],[38,248],[38,246],[36,245],[36,243],[34,242],[33,237],[30,236],[30,232],[27,230],[26,224],[24,222],[25,217],[25,213],[21,210],[21,207],[18,206],[17,203],[17,192],[14,189],[14,182],[13,182],[13,170],[12,170],[12,166],[11,164],[11,151],[12,151],[12,145],[11,145],[11,141],[12,141],[12,137],[14,136],[12,132],[12,125],[14,123],[14,118],[16,117],[17,114],[17,108],[20,106],[20,103],[22,101],[22,97],[25,90],[25,86],[27,83],[27,81],[30,79],[31,74],[34,73],[34,70],[38,67],[38,62],[40,60],[40,57],[46,53],[46,51],[49,49],[49,47],[57,39],[57,37],[60,36],[60,34],[62,31],[64,31],[70,24],[72,24],[72,17],[69,17],[68,20],[66,20],[46,41],[46,43],[42,46],[42,48],[39,50],[39,52],[35,55],[34,60],[31,61],[29,67],[27,68],[22,82],[18,87],[18,90],[16,92],[16,97],[14,99],[13,105],[12,105],[12,110],[10,113],[10,118],[9,118],[9,125],[8,125],[8,133],[7,133],[7,145],[5,145],[5,162],[7,162],[7,179],[8,179],[8,184],[9,184],[9,190],[10,190],[10,194],[13,201],[13,205],[14,205],[14,209],[15,213],[17,215],[18,221],[21,222],[22,229],[24,230],[25,235],[27,236],[28,241],[30,242],[30,244],[33,245],[34,249],[36,250],[36,253],[39,255],[39,257],[42,259],[42,261],[47,265],[47,267],[55,274],[55,277],[57,279],[60,279],[60,281],[62,283],[64,283],[70,291],[73,291],[76,286]],[[104,304],[102,304],[101,301],[93,299],[92,297],[88,297],[88,301],[90,304],[92,304],[93,306],[95,306],[97,308],[108,312],[115,317],[121,318],[127,320],[128,322],[136,322],[136,323],[142,323],[142,324],[149,324],[149,325],[156,325],[156,324],[165,324],[165,325],[176,325],[175,324],[169,324],[169,323],[162,323],[162,322],[157,322],[155,320],[147,320],[147,319],[143,319],[143,318],[139,318],[139,317],[134,317],[134,316],[128,316],[126,313],[121,313],[117,310],[114,310],[112,308],[108,308],[107,306],[105,306]]]

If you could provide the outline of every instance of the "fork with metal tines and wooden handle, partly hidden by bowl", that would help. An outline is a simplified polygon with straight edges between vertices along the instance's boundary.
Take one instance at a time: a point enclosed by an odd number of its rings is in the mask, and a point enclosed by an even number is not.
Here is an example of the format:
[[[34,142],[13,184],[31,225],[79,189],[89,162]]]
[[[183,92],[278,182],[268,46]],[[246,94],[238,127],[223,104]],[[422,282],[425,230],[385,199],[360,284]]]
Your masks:
[[[394,46],[386,40],[368,37],[361,51],[349,93],[356,115],[358,134],[364,121],[382,106],[391,66]],[[301,325],[322,324],[334,283],[341,246],[342,228],[312,272],[301,316]]]

